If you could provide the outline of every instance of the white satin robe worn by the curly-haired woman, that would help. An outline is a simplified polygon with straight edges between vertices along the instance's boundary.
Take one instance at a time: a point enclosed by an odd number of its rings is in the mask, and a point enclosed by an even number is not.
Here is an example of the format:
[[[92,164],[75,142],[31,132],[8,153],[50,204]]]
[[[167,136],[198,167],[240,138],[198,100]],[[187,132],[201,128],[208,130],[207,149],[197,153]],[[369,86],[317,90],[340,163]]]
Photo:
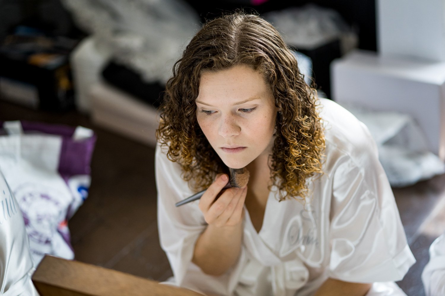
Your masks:
[[[278,202],[271,190],[257,233],[245,210],[241,255],[223,276],[191,262],[206,222],[176,162],[156,150],[158,227],[174,272],[172,284],[211,295],[310,296],[328,278],[349,282],[401,280],[415,260],[388,179],[368,129],[338,104],[320,99],[326,138],[324,174],[308,180],[306,206]],[[405,295],[394,283],[369,296]]]

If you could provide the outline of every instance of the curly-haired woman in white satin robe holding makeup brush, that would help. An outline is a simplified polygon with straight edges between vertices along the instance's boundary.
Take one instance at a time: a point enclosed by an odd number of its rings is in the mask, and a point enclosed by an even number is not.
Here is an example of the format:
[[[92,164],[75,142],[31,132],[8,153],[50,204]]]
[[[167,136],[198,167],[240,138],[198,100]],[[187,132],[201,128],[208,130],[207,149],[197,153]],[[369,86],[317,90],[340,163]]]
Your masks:
[[[316,98],[259,16],[205,24],[164,99],[158,225],[175,284],[212,295],[383,295],[372,283],[400,280],[413,264],[368,130]],[[228,167],[250,179],[219,196]]]

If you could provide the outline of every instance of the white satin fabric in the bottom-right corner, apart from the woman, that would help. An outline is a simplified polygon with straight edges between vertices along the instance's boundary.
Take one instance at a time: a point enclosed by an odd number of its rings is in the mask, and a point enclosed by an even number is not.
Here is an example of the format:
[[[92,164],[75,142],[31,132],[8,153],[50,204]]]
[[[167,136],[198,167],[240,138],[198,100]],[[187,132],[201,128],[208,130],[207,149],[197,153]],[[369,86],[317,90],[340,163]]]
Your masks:
[[[445,295],[445,233],[429,248],[429,262],[422,272],[426,296]]]

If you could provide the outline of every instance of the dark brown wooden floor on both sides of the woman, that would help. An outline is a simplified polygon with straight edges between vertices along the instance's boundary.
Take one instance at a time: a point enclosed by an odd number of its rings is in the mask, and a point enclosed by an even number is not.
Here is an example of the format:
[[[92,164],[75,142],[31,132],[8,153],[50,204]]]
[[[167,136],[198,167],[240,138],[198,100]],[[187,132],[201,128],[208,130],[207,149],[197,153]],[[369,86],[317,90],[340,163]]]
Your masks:
[[[154,148],[94,126],[75,111],[33,111],[0,101],[0,120],[82,125],[95,130],[89,197],[69,221],[76,259],[134,275],[166,280],[171,270],[159,246]],[[417,263],[398,284],[423,296],[420,274],[431,242],[445,230],[445,175],[394,189]]]

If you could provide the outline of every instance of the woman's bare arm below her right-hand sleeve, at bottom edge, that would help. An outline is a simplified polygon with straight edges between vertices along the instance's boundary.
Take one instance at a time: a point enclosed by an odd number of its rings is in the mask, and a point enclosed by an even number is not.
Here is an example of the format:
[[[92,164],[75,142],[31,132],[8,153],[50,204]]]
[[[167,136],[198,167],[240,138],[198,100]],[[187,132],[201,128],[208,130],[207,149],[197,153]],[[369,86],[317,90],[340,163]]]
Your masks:
[[[328,278],[314,296],[364,296],[372,284],[350,283]]]

